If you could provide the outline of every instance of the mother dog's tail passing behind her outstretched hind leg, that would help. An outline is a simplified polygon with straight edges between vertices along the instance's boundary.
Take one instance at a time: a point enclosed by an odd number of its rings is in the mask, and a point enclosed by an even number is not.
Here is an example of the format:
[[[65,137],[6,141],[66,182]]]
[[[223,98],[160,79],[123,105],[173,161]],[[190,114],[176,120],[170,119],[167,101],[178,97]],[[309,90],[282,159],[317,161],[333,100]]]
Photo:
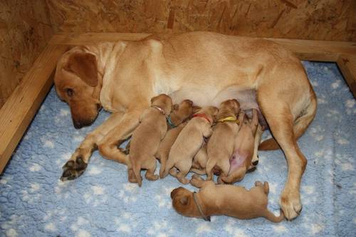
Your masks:
[[[316,114],[316,107],[317,101],[315,97],[315,93],[313,88],[310,88],[310,103],[302,112],[302,115],[298,117],[293,125],[293,131],[295,139],[298,139],[305,130],[308,128],[310,123],[313,121],[315,114]],[[268,151],[273,149],[279,149],[278,142],[274,138],[266,139],[265,141],[261,142],[258,146],[259,150]]]

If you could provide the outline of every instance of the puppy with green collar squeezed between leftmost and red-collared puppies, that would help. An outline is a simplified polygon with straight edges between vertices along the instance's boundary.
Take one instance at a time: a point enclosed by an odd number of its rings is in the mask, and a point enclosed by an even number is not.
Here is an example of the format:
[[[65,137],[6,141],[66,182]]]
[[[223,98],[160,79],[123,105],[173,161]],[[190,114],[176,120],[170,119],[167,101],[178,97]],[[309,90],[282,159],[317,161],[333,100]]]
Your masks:
[[[170,130],[165,135],[162,142],[159,144],[156,158],[161,162],[161,168],[159,169],[159,177],[163,178],[164,167],[166,165],[169,150],[172,147],[172,144],[179,135],[179,132],[182,131],[183,127],[187,124],[182,122],[187,120],[192,115],[192,112],[196,110],[197,107],[193,106],[192,100],[183,100],[179,105],[174,105],[174,109],[167,118],[167,123],[170,127]]]

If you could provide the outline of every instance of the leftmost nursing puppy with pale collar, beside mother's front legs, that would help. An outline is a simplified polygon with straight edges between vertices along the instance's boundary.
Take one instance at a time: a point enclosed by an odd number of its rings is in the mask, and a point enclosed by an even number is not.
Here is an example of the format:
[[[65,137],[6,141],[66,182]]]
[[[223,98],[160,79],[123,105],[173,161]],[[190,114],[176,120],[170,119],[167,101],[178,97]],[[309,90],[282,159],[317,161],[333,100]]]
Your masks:
[[[172,110],[172,99],[168,95],[158,95],[151,99],[151,107],[142,113],[140,125],[132,133],[130,164],[139,186],[142,185],[141,169],[147,169],[146,179],[156,180],[155,154],[159,142],[167,132],[166,117]],[[128,167],[130,170],[130,167]],[[129,172],[130,177],[130,172]]]

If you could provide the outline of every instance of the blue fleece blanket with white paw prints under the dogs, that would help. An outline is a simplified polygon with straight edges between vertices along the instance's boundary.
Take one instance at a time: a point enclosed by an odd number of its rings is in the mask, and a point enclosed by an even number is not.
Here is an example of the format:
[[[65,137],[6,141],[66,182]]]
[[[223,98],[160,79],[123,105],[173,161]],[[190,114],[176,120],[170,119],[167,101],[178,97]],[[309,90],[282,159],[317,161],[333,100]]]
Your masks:
[[[303,211],[294,221],[180,216],[169,196],[181,186],[176,179],[144,179],[139,188],[127,182],[124,165],[98,152],[80,178],[60,181],[70,154],[109,114],[75,130],[68,105],[52,88],[0,178],[0,236],[356,236],[355,99],[335,64],[303,65],[318,113],[298,141],[308,166],[300,189]],[[256,180],[268,181],[268,208],[279,214],[286,159],[281,151],[259,157],[256,171],[240,184],[249,189]]]

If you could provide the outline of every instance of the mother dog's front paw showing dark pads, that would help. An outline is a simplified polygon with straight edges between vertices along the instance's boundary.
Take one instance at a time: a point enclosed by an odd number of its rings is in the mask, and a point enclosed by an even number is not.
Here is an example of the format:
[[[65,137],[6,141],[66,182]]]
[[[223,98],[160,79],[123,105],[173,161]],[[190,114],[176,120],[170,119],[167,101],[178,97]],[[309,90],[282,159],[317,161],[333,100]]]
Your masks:
[[[73,180],[85,172],[88,164],[83,161],[83,157],[78,155],[75,159],[70,159],[63,166],[63,174],[61,177],[62,181]]]

